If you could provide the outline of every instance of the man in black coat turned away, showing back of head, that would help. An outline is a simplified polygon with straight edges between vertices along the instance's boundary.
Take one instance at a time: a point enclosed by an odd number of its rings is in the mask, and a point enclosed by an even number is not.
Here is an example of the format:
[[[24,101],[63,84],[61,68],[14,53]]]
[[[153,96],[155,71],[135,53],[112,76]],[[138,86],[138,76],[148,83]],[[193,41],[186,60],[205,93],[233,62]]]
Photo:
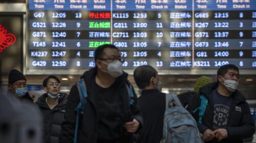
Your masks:
[[[163,133],[165,111],[165,93],[161,92],[162,85],[158,72],[152,66],[139,66],[134,70],[134,80],[142,90],[138,98],[144,120],[144,126],[139,132],[143,143],[159,143]]]

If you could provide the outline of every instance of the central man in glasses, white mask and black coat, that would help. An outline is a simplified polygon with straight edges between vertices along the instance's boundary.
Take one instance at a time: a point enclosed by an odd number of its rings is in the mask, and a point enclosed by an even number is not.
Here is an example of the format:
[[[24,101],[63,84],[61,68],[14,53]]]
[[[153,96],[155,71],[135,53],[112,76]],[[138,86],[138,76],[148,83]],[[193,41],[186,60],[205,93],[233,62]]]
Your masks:
[[[114,45],[102,45],[95,50],[96,67],[86,71],[81,79],[88,97],[76,122],[75,108],[80,103],[79,89],[73,86],[68,97],[65,122],[60,143],[121,143],[133,142],[133,135],[142,126],[137,97],[122,71],[119,50]],[[135,95],[135,96],[132,96]],[[78,132],[75,133],[75,127]]]

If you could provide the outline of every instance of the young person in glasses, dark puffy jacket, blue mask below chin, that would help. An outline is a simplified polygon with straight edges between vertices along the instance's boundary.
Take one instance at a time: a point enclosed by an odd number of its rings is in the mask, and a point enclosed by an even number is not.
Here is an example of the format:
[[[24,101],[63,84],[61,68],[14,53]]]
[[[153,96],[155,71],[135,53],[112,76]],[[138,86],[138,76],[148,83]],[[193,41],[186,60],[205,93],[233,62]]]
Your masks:
[[[43,140],[45,143],[55,143],[61,133],[68,95],[59,92],[60,80],[54,75],[48,76],[42,85],[47,93],[39,97],[36,104],[44,117]]]

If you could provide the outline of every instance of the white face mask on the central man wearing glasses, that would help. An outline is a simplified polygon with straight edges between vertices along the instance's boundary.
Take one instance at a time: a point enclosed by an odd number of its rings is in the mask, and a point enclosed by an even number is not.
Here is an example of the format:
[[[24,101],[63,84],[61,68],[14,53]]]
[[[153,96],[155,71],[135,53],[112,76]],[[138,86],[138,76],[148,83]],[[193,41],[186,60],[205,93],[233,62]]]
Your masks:
[[[119,60],[116,60],[109,64],[105,63],[105,62],[103,62],[103,63],[108,65],[108,68],[107,68],[108,71],[104,71],[104,70],[102,70],[102,71],[108,72],[111,76],[118,77],[123,74],[122,63]]]

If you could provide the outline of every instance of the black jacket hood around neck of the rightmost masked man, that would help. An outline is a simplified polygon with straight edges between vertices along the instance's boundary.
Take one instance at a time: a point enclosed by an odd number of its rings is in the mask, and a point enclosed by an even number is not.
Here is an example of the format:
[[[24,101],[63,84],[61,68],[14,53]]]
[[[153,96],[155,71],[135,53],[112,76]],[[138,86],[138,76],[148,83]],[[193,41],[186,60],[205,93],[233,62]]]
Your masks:
[[[210,93],[212,90],[217,89],[217,87],[218,82],[208,83],[199,89],[199,94],[204,94],[208,99],[210,99]],[[231,96],[238,100],[238,102],[246,100],[246,98],[238,90],[236,90]]]

